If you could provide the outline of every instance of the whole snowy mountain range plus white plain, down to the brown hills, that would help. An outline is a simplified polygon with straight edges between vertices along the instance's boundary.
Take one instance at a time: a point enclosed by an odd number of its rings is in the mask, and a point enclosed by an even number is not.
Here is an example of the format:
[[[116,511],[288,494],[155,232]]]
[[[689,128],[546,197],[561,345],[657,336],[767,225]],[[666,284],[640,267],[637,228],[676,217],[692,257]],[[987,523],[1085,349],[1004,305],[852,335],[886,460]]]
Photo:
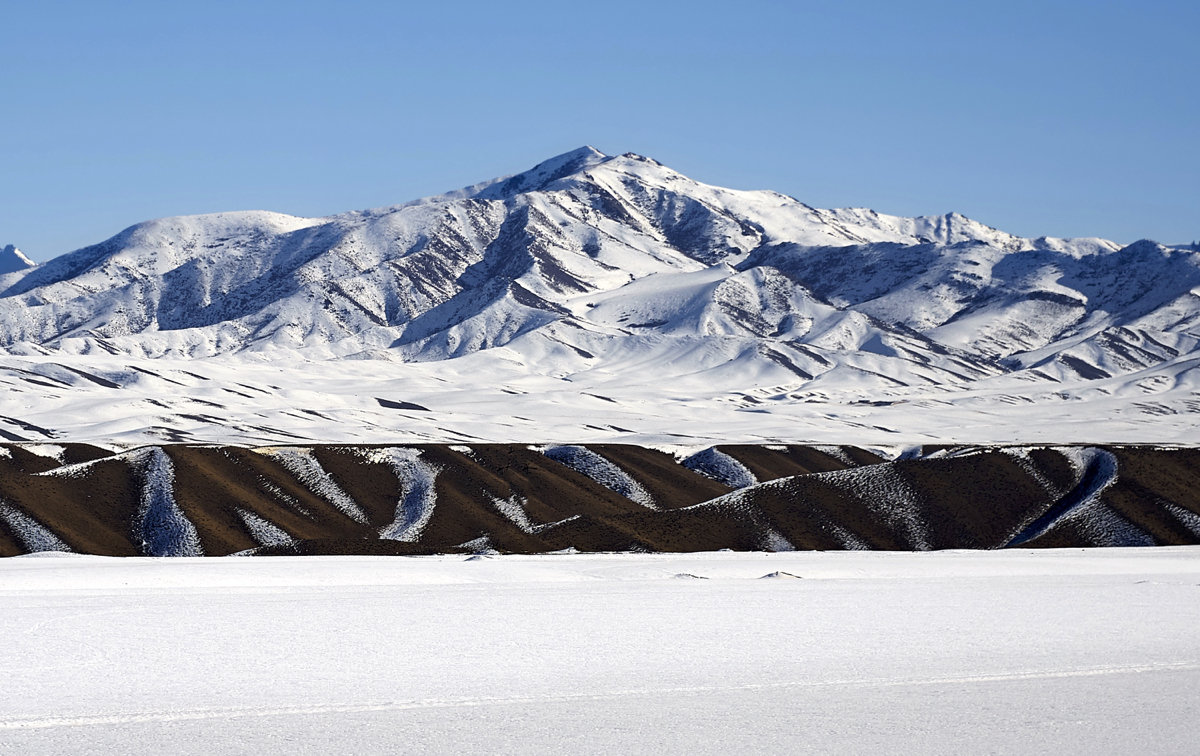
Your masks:
[[[821,210],[590,148],[0,275],[8,440],[1192,442],[1198,366],[1194,251]]]

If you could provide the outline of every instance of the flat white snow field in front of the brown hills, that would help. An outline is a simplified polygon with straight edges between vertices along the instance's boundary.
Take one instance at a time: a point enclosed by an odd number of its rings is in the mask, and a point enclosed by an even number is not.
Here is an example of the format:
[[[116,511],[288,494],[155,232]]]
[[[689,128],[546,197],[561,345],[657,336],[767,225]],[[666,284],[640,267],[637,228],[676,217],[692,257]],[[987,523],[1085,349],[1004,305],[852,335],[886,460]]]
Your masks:
[[[1196,547],[12,558],[0,750],[1192,752],[1196,628]]]

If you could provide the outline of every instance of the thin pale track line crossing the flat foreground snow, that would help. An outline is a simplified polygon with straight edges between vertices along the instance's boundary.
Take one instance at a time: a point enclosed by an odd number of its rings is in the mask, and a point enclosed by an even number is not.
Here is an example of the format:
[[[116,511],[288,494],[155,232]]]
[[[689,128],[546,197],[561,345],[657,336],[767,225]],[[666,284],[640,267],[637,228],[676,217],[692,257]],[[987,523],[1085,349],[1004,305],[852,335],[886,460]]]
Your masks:
[[[701,695],[756,690],[821,689],[821,688],[908,688],[919,685],[977,685],[1018,680],[1069,679],[1110,674],[1145,674],[1156,672],[1200,671],[1200,660],[1064,667],[1058,670],[1028,670],[990,674],[948,674],[907,678],[844,678],[832,680],[785,680],[776,683],[746,683],[738,685],[678,685],[671,688],[629,688],[595,692],[554,692],[529,696],[451,696],[440,698],[409,698],[377,703],[314,703],[282,707],[228,707],[206,709],[173,709],[77,716],[24,716],[0,719],[0,731],[46,730],[53,727],[92,727],[103,725],[133,725],[142,722],[175,722],[197,720],[253,719],[268,716],[306,716],[320,714],[360,714],[371,712],[404,712],[419,709],[452,709],[484,706],[528,706],[536,703],[570,703],[612,701],[664,695]]]

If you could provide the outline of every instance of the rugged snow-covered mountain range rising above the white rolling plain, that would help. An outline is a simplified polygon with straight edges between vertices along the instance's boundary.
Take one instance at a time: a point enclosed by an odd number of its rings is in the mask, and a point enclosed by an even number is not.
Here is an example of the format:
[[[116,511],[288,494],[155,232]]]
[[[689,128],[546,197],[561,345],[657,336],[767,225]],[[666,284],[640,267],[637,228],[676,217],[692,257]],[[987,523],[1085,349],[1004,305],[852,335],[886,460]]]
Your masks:
[[[821,210],[592,148],[325,218],[162,218],[0,276],[0,349],[38,364],[472,356],[461,370],[606,396],[670,378],[770,412],[1075,386],[1190,412],[1198,318],[1190,250]]]

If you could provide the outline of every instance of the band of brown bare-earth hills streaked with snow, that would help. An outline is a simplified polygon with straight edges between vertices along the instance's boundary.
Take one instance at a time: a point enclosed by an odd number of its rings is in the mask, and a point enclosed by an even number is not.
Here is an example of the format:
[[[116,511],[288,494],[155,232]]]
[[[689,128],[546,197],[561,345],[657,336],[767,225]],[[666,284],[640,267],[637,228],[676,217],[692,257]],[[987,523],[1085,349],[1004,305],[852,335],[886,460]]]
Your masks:
[[[0,446],[0,554],[936,550],[1200,542],[1200,451]],[[671,452],[674,454],[671,454]]]

